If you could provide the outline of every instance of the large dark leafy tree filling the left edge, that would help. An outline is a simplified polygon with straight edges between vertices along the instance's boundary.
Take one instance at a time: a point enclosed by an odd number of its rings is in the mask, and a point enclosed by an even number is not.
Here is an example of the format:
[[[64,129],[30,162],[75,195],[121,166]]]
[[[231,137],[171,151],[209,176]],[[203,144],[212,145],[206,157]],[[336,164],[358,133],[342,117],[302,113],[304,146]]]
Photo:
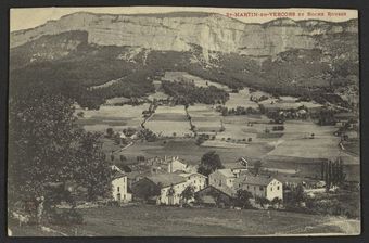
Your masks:
[[[76,125],[73,103],[42,88],[12,94],[8,175],[12,205],[42,196],[46,204],[55,205],[58,193],[47,193],[50,183],[61,183],[65,189],[68,181],[87,186],[99,177],[97,194],[106,189],[110,175],[105,174],[107,165],[100,153],[99,136],[86,133]]]

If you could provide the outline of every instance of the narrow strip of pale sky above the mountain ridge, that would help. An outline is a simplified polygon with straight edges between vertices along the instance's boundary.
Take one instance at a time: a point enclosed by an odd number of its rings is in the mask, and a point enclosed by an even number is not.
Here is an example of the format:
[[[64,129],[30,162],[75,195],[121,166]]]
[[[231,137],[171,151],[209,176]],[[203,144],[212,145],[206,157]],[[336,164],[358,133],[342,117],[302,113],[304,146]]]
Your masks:
[[[10,13],[10,30],[33,28],[50,20],[75,12],[137,14],[137,13],[167,13],[167,12],[213,12],[234,17],[245,23],[264,23],[280,17],[298,20],[323,20],[344,22],[357,18],[356,10],[344,9],[229,9],[229,8],[198,8],[198,7],[99,7],[99,8],[15,8]],[[294,14],[294,16],[291,16]]]

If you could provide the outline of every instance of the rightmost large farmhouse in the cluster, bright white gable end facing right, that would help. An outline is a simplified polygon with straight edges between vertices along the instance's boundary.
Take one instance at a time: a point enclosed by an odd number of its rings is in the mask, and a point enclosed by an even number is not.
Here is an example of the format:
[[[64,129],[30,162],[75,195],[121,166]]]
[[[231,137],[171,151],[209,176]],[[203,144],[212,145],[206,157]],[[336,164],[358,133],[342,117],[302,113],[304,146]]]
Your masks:
[[[282,182],[270,176],[254,176],[250,172],[240,175],[234,180],[234,190],[246,190],[254,197],[265,197],[267,200],[283,199]]]

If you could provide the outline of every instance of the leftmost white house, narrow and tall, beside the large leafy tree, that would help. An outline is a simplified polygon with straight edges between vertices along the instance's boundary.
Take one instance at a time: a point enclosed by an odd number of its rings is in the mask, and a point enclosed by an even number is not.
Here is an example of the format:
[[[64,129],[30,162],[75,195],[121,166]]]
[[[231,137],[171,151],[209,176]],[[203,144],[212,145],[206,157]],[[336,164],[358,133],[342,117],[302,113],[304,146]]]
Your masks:
[[[114,171],[112,179],[113,200],[119,203],[132,201],[132,194],[128,192],[127,176],[122,171]]]

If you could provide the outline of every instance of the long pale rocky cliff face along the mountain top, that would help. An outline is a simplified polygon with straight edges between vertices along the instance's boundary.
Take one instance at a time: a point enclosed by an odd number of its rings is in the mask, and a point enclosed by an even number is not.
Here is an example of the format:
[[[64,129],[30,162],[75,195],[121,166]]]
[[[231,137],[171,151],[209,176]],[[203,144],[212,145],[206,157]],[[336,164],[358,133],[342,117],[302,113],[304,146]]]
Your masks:
[[[357,21],[329,23],[281,18],[266,24],[245,24],[219,14],[170,13],[109,15],[75,13],[42,26],[11,34],[11,48],[44,35],[71,30],[88,33],[98,46],[140,47],[157,51],[189,51],[193,46],[208,52],[273,56],[290,49],[313,49],[321,34],[357,33]]]

